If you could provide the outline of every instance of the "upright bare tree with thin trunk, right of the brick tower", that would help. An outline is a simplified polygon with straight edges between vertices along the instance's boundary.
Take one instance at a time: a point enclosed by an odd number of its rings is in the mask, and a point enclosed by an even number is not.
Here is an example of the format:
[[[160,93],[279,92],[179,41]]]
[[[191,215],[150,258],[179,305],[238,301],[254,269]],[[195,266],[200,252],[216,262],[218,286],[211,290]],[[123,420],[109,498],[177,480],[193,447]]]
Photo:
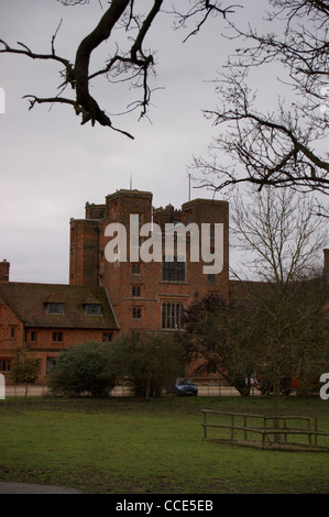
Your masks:
[[[328,228],[311,210],[311,199],[273,187],[251,191],[248,202],[237,195],[231,216],[248,275],[261,280],[240,284],[252,301],[252,339],[259,371],[273,385],[274,415],[281,381],[316,378],[328,352],[326,284],[318,265]]]

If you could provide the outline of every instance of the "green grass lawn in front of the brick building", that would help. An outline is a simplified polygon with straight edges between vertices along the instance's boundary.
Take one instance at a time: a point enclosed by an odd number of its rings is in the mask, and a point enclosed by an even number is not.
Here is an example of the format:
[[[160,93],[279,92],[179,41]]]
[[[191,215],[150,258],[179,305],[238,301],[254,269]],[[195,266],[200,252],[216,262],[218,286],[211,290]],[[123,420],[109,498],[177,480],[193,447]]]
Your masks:
[[[271,414],[267,397],[0,400],[0,481],[89,494],[329,493],[328,452],[283,452],[202,441],[201,408]],[[317,416],[329,402],[292,397],[282,414]]]

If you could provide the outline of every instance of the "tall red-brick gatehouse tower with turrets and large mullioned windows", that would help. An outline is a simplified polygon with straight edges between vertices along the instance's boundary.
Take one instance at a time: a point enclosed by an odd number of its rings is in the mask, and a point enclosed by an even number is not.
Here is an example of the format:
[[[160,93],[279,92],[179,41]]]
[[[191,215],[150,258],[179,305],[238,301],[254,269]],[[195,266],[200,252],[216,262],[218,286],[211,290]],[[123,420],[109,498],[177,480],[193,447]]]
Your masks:
[[[109,262],[106,228],[111,223],[130,228],[131,216],[139,228],[145,223],[165,224],[215,223],[223,224],[223,267],[219,274],[204,274],[204,263],[190,261],[190,235],[186,235],[186,262],[177,261],[175,246],[173,262],[145,263],[130,260],[145,237],[128,240],[127,262]],[[199,235],[200,237],[200,235]],[[211,244],[210,235],[210,246]],[[135,246],[136,250],[132,250]],[[136,254],[135,254],[136,255]],[[152,194],[140,190],[119,190],[106,198],[105,205],[86,205],[85,219],[70,220],[70,285],[105,286],[121,332],[161,331],[180,327],[184,307],[209,292],[229,296],[229,205],[227,201],[196,199],[175,210],[152,207]]]

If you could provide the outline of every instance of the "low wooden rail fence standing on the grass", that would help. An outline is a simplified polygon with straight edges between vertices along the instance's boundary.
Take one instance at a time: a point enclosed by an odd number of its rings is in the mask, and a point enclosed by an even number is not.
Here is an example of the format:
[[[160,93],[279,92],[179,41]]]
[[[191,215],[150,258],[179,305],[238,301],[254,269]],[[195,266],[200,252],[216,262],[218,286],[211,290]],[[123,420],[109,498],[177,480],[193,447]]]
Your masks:
[[[329,432],[318,430],[317,418],[311,419],[310,417],[300,416],[271,417],[216,411],[213,409],[201,409],[201,413],[204,414],[204,440],[261,449],[329,451]],[[213,421],[209,422],[208,415],[223,417],[222,422],[218,424],[218,420],[216,424]],[[271,421],[272,426],[268,426]],[[288,425],[290,421],[294,424],[304,421],[306,427],[290,427]],[[226,430],[224,436],[209,438],[209,428]],[[251,435],[253,439],[251,439]],[[254,436],[256,436],[255,439]],[[292,436],[305,437],[306,441],[299,440],[299,442],[294,443],[289,441]],[[320,443],[320,439],[325,443]]]

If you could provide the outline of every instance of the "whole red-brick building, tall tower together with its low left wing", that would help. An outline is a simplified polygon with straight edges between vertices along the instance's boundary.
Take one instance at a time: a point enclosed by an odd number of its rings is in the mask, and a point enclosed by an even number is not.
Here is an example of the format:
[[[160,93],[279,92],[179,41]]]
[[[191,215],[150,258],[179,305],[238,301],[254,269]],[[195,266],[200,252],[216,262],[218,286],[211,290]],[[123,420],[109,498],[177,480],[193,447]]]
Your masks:
[[[223,267],[204,274],[202,262],[190,261],[190,235],[186,234],[186,261],[131,261],[131,253],[145,237],[128,242],[127,262],[106,257],[110,238],[106,229],[120,223],[129,229],[145,223],[209,223],[213,252],[215,223],[223,226]],[[164,235],[164,234],[163,234]],[[8,376],[19,348],[41,362],[41,381],[64,349],[87,340],[111,340],[132,331],[172,332],[182,324],[184,308],[209,292],[229,296],[229,205],[196,199],[180,210],[171,205],[154,209],[152,194],[119,190],[103,205],[86,204],[85,219],[70,220],[69,285],[10,282],[10,264],[0,263],[0,372]]]

